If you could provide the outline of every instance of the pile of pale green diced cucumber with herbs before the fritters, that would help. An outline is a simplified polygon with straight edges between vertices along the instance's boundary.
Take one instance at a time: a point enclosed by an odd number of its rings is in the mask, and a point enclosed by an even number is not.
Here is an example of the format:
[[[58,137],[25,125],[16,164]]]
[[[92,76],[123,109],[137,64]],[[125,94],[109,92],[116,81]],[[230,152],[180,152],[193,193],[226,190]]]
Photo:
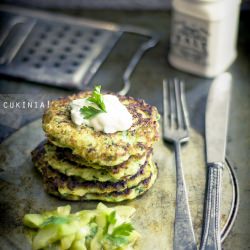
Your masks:
[[[33,232],[33,250],[132,250],[139,237],[130,222],[134,212],[132,207],[99,203],[96,210],[70,214],[70,206],[63,206],[27,214],[23,222]]]

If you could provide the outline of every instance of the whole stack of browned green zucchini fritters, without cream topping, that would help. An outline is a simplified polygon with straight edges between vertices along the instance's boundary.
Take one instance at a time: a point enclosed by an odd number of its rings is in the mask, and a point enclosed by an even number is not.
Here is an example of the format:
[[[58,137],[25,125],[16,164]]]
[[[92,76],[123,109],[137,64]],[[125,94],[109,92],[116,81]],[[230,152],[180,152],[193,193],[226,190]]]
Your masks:
[[[82,92],[51,102],[43,117],[48,140],[32,152],[48,193],[67,200],[134,199],[155,182],[152,146],[159,138],[158,111],[143,100],[118,96],[133,117],[127,131],[107,134],[76,126],[70,103]]]

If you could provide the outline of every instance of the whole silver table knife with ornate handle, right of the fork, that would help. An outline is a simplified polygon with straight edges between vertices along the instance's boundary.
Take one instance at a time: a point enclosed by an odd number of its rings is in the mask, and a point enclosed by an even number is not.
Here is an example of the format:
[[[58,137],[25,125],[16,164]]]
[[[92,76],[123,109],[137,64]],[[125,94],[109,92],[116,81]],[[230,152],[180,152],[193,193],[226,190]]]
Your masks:
[[[221,175],[225,162],[232,77],[219,75],[212,83],[206,106],[207,189],[201,250],[220,250]]]

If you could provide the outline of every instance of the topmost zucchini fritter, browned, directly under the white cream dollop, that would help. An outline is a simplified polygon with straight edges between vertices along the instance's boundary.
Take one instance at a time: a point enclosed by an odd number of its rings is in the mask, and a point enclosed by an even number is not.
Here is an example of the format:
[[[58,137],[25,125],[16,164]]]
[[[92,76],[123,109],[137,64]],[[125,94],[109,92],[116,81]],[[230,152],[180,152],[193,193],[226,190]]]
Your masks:
[[[53,101],[43,116],[43,129],[49,141],[59,147],[70,148],[89,164],[115,166],[130,156],[144,155],[159,138],[158,111],[143,100],[119,96],[133,117],[127,131],[106,134],[87,126],[76,126],[70,118],[70,102],[91,96],[82,92]]]

